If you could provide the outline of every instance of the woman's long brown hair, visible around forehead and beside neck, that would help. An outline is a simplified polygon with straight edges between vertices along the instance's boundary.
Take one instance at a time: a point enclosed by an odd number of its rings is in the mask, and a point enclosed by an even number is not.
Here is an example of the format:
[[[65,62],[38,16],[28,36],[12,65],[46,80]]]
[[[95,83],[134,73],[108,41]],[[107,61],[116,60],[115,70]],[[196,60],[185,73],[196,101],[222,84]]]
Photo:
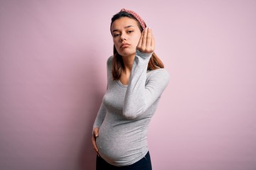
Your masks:
[[[127,13],[126,11],[120,11],[119,13],[115,14],[112,17],[110,28],[112,26],[112,23],[114,23],[114,21],[116,21],[117,19],[122,18],[122,17],[132,18],[135,21],[137,21],[137,19],[134,16],[132,16],[132,14]],[[143,28],[139,24],[139,21],[137,21],[137,24],[139,26],[139,30],[141,30],[141,32],[142,32]],[[146,26],[146,24],[145,24],[145,26]],[[154,70],[154,69],[159,69],[159,68],[164,68],[164,64],[163,64],[163,62],[161,62],[159,57],[157,57],[157,55],[153,52],[150,57],[147,69]],[[113,60],[112,60],[112,77],[114,80],[118,80],[121,77],[123,69],[124,69],[124,61],[122,60],[122,56],[118,54],[117,49],[114,47],[114,55],[113,55]]]

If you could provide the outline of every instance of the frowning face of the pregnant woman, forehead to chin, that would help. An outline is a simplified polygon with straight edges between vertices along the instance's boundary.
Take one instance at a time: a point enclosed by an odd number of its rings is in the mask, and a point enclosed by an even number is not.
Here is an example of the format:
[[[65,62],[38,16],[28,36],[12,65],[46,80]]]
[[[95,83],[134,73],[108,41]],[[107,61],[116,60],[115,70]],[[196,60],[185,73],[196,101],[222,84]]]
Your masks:
[[[114,47],[122,57],[135,55],[136,47],[142,32],[137,21],[132,18],[122,17],[112,23],[111,33]]]

